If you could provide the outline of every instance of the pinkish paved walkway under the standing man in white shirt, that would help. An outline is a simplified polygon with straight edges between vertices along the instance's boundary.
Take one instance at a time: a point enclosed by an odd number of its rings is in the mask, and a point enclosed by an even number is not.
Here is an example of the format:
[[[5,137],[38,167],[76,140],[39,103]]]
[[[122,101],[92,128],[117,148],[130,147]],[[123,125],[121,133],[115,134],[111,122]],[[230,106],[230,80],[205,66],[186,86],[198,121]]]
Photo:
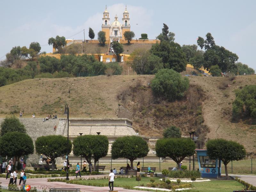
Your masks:
[[[82,178],[96,178],[96,177],[104,177],[108,175],[86,175],[82,176]],[[66,179],[66,177],[55,177],[59,179]],[[55,179],[52,178],[52,179]],[[36,187],[37,190],[43,190],[43,189],[50,189],[50,188],[80,188],[81,192],[89,192],[89,191],[108,191],[108,187],[93,187],[93,186],[86,186],[86,185],[76,185],[76,184],[68,184],[64,182],[47,182],[48,178],[34,178],[34,179],[27,179],[26,184],[30,185],[32,187]],[[70,176],[69,179],[75,179],[75,176]],[[10,179],[7,180],[5,178],[0,178],[1,186],[7,187]],[[17,178],[17,183],[19,186],[19,177]],[[22,182],[21,182],[22,184]],[[117,188],[115,187],[114,183],[114,190],[118,190],[118,192],[138,192],[138,190],[129,190],[124,188]]]

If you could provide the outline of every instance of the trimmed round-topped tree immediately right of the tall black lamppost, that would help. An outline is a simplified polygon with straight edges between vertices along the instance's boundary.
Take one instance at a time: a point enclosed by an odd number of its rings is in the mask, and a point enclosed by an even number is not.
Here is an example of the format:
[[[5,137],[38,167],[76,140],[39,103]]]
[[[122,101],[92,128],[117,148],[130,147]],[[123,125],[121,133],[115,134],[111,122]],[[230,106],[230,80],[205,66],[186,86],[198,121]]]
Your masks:
[[[92,160],[94,160],[93,171],[96,170],[96,163],[101,157],[108,154],[108,138],[104,135],[83,135],[73,141],[73,153],[75,156],[82,156],[89,163],[92,172]]]

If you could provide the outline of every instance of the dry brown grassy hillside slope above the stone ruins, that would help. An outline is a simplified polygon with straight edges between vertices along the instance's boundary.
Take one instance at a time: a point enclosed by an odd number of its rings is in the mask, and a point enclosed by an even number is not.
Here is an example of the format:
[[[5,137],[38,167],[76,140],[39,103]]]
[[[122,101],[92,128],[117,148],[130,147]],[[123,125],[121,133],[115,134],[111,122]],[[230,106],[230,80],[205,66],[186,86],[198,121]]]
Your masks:
[[[60,79],[28,79],[0,87],[0,117],[24,110],[25,117],[63,114],[70,117],[122,117],[133,120],[133,128],[146,136],[161,136],[171,124],[183,135],[196,130],[200,140],[228,138],[256,151],[256,126],[250,119],[232,119],[234,90],[256,83],[256,76],[189,76],[190,88],[182,100],[166,102],[152,95],[152,75],[94,76]],[[222,88],[223,84],[230,86]],[[222,89],[220,89],[221,87]],[[68,91],[70,90],[70,97]],[[219,129],[218,129],[219,127]],[[218,130],[217,130],[218,129]]]

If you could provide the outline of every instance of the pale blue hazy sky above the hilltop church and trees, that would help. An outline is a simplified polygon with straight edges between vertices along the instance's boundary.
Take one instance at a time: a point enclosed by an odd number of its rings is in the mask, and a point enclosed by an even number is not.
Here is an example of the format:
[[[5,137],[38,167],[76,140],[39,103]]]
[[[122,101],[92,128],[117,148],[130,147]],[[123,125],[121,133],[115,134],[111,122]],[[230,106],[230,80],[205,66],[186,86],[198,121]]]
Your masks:
[[[52,52],[48,39],[89,39],[89,27],[95,38],[101,30],[107,2],[110,22],[122,15],[127,5],[135,38],[147,33],[155,39],[163,23],[175,33],[175,42],[196,44],[198,36],[210,32],[215,43],[236,53],[238,62],[256,70],[256,1],[255,0],[176,0],[176,1],[83,1],[83,0],[0,0],[0,60],[14,46],[39,42],[41,51]]]

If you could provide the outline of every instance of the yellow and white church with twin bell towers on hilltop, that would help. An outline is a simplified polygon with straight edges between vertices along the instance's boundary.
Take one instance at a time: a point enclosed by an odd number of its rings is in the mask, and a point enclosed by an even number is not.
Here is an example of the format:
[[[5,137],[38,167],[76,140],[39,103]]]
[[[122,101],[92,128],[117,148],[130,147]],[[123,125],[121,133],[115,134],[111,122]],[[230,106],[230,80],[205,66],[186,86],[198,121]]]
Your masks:
[[[117,15],[115,16],[114,22],[110,24],[109,12],[107,10],[107,6],[105,11],[103,12],[102,18],[102,31],[106,33],[106,40],[118,41],[124,40],[124,32],[130,31],[130,17],[129,12],[127,11],[127,7],[125,6],[125,10],[123,13],[122,24],[118,21]]]

